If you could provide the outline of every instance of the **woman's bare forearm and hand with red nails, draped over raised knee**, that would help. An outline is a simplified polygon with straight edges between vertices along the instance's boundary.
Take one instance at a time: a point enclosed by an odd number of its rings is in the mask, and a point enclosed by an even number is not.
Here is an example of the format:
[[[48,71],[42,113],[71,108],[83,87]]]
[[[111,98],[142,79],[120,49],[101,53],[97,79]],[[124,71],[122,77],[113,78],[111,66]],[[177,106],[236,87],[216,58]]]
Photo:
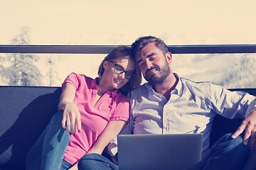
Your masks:
[[[75,123],[78,126],[78,132],[81,130],[81,119],[78,106],[73,103],[75,98],[75,87],[72,84],[65,83],[63,86],[63,92],[60,95],[60,102],[58,104],[58,110],[63,110],[62,126],[64,129],[68,128],[68,132],[75,134]],[[72,131],[70,127],[72,125]]]

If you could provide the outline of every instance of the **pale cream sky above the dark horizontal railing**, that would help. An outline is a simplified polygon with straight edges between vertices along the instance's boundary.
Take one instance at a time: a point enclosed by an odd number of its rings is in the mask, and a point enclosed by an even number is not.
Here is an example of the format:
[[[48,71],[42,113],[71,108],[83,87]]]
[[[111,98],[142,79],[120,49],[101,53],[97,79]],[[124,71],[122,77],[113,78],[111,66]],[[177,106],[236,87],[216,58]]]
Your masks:
[[[255,44],[255,0],[1,0],[0,44],[31,29],[31,44]]]

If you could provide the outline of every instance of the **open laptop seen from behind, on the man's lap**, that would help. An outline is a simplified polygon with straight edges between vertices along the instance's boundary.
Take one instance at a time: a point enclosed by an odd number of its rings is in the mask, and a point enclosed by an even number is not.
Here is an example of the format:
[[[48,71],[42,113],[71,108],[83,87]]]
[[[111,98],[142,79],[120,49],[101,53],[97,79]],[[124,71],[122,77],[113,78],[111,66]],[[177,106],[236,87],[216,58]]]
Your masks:
[[[202,134],[118,135],[119,170],[200,169]]]

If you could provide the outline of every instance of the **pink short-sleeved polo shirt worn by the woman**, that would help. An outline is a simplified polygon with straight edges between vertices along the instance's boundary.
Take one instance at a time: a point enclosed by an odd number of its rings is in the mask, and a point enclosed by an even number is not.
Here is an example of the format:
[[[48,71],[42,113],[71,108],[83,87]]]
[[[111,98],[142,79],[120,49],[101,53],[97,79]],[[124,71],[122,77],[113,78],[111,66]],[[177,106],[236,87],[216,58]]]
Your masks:
[[[70,136],[64,155],[65,161],[70,164],[75,164],[88,152],[110,120],[129,119],[129,102],[117,90],[107,91],[95,106],[92,106],[98,91],[96,79],[72,73],[62,85],[63,88],[65,83],[70,83],[75,87],[74,103],[78,106],[82,122],[81,132]]]

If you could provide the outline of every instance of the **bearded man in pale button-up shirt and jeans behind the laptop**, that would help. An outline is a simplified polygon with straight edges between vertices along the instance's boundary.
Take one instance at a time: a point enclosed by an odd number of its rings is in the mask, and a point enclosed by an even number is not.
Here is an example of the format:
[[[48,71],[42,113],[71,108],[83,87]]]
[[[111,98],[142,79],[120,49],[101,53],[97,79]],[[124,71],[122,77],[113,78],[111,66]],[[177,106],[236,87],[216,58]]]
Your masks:
[[[251,149],[256,145],[255,96],[178,77],[171,69],[171,52],[159,38],[138,38],[132,50],[148,83],[132,91],[130,123],[122,134],[203,133],[202,168],[242,169],[250,153],[249,138]],[[209,149],[216,114],[245,120],[232,136],[225,135]],[[109,149],[117,153],[114,142]]]

